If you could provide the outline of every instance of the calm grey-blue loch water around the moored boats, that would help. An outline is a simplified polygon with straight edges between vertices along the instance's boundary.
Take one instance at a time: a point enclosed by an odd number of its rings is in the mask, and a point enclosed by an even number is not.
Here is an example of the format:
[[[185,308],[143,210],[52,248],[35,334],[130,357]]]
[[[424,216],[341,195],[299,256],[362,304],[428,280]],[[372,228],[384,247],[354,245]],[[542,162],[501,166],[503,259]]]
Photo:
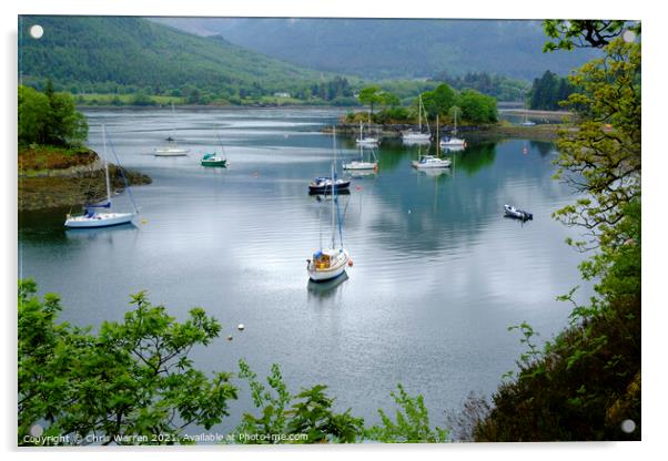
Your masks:
[[[514,368],[523,348],[508,326],[526,320],[548,339],[567,325],[569,306],[555,297],[581,284],[580,255],[564,244],[573,230],[550,218],[575,198],[550,178],[549,143],[472,145],[441,175],[411,167],[419,147],[383,143],[378,174],[355,177],[341,197],[354,267],[335,286],[313,286],[306,258],[331,236],[330,204],[307,184],[330,171],[332,136],[321,129],[337,112],[87,115],[90,145],[102,151],[105,123],[123,165],[153,184],[133,188],[141,215],[130,226],[65,232],[67,209],[20,215],[20,275],[61,294],[64,320],[120,320],[128,295],[146,289],[179,318],[201,306],[223,322],[221,339],[194,351],[202,368],[236,370],[245,358],[264,376],[279,362],[294,391],[325,383],[338,408],[370,422],[401,382],[425,396],[436,423]],[[199,164],[214,127],[226,170]],[[190,156],[153,157],[172,129]],[[357,156],[352,139],[337,144],[340,158]],[[505,218],[505,203],[534,221]],[[114,206],[130,209],[126,194]],[[242,400],[235,411],[250,409]]]

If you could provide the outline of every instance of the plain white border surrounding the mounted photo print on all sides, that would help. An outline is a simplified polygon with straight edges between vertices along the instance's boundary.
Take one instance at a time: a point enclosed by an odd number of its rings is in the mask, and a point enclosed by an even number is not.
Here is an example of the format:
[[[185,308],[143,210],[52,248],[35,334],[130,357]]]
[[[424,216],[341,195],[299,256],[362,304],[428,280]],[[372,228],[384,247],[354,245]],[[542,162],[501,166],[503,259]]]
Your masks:
[[[649,3],[649,2],[647,2]],[[289,460],[340,460],[342,457],[362,459],[363,457],[379,455],[388,459],[402,459],[414,454],[421,459],[443,459],[444,457],[473,457],[474,459],[532,459],[561,460],[564,457],[605,457],[606,459],[654,459],[655,453],[665,452],[662,438],[666,428],[666,371],[662,369],[666,359],[662,351],[665,345],[659,341],[668,327],[666,321],[667,306],[659,303],[665,296],[660,290],[662,280],[665,247],[661,244],[664,224],[664,207],[661,201],[661,180],[665,175],[668,153],[665,148],[666,130],[661,107],[666,107],[665,76],[666,52],[664,44],[666,20],[657,3],[648,6],[629,1],[581,1],[559,0],[553,2],[534,1],[465,1],[455,2],[441,0],[437,2],[411,1],[360,1],[337,0],[328,2],[296,1],[296,0],[245,0],[242,2],[214,2],[213,0],[188,1],[75,1],[75,0],[24,0],[20,4],[2,3],[4,69],[2,73],[3,110],[0,111],[2,122],[1,140],[4,150],[2,158],[2,201],[1,213],[2,242],[6,264],[2,266],[3,300],[3,365],[6,373],[2,379],[2,417],[0,418],[3,450],[10,451],[10,458],[48,458],[48,459],[118,459],[119,451],[123,457],[139,459],[145,454],[159,455],[164,459],[182,460],[184,457],[204,457],[215,459],[289,459]],[[644,412],[642,438],[639,443],[539,443],[539,444],[475,444],[457,447],[405,447],[405,445],[372,445],[372,447],[307,447],[291,448],[275,447],[267,449],[253,448],[186,448],[180,451],[115,449],[110,452],[89,450],[71,451],[22,451],[13,449],[16,443],[16,281],[17,281],[17,178],[16,178],[16,84],[17,84],[17,16],[18,14],[130,14],[130,16],[240,16],[240,17],[371,17],[371,18],[484,18],[484,19],[536,19],[536,18],[606,18],[636,19],[642,21],[644,42],[644,93],[650,95],[644,101]],[[661,79],[661,80],[660,80]],[[661,84],[664,83],[664,84]],[[662,129],[662,130],[661,130]],[[659,133],[664,134],[659,144]],[[664,147],[664,148],[661,148]],[[660,201],[660,202],[659,202]],[[9,256],[10,257],[9,257]],[[664,335],[662,335],[664,334]],[[184,452],[185,451],[185,452]],[[38,454],[40,453],[40,454]],[[188,454],[186,454],[188,453]],[[195,454],[196,453],[196,454]],[[270,454],[271,453],[271,454]]]

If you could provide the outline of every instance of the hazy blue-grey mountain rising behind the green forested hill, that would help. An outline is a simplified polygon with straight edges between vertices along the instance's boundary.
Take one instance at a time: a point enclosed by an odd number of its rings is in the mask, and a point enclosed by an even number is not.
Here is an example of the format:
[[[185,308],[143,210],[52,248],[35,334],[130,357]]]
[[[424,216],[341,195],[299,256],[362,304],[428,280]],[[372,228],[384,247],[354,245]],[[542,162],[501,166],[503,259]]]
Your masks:
[[[567,74],[591,50],[543,53],[539,21],[414,19],[152,18],[312,69],[366,78],[441,72],[497,73],[530,80]]]

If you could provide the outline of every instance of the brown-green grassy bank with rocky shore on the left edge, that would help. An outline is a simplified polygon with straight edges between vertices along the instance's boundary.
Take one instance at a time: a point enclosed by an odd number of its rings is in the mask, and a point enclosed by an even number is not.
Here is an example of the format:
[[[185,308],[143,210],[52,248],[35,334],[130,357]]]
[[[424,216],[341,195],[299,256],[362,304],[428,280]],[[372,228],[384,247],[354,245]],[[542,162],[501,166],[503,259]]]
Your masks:
[[[27,146],[19,148],[19,211],[78,207],[104,198],[103,163],[88,147]],[[114,193],[125,188],[121,168],[109,165]],[[132,185],[150,184],[139,172],[123,170]]]

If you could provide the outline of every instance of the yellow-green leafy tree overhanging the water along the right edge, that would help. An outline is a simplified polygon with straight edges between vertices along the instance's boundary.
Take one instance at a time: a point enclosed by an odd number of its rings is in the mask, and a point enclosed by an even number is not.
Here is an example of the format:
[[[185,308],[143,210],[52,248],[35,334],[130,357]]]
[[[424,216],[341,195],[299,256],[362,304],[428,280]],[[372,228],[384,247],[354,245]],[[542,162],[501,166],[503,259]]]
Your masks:
[[[605,57],[570,78],[580,90],[565,105],[578,115],[577,130],[560,133],[556,177],[584,195],[555,216],[584,227],[588,243],[620,245],[615,225],[640,196],[640,44],[614,40]],[[586,242],[576,243],[580,248]]]

